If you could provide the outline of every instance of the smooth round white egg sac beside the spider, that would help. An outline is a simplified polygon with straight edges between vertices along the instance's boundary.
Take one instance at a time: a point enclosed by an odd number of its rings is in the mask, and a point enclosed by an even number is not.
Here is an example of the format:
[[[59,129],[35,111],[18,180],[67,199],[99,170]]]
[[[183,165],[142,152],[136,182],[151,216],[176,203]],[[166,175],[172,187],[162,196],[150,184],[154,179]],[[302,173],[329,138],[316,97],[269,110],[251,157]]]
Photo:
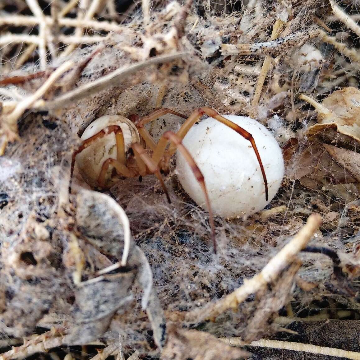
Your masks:
[[[245,116],[224,115],[252,134],[264,165],[265,184],[250,141],[213,118],[192,126],[183,144],[200,168],[213,212],[221,217],[242,217],[262,210],[275,196],[284,175],[282,151],[263,125]],[[205,197],[188,163],[176,153],[177,176],[184,190],[201,207]]]

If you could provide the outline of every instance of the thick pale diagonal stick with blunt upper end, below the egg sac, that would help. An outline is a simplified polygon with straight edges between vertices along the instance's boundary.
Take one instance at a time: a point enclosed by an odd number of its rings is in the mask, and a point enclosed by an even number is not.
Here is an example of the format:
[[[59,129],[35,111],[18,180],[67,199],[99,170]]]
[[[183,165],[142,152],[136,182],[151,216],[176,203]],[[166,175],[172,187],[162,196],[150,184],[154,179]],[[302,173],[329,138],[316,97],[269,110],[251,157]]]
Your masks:
[[[253,276],[249,280],[244,280],[243,285],[227,295],[225,298],[211,303],[202,309],[196,309],[185,315],[185,320],[194,319],[205,320],[213,319],[229,309],[237,309],[238,305],[246,300],[251,294],[256,293],[266,284],[274,281],[280,272],[294,260],[295,256],[306,246],[312,235],[321,224],[321,216],[312,214],[307,219],[305,226],[299,231],[293,239],[273,257],[262,269],[260,274]]]

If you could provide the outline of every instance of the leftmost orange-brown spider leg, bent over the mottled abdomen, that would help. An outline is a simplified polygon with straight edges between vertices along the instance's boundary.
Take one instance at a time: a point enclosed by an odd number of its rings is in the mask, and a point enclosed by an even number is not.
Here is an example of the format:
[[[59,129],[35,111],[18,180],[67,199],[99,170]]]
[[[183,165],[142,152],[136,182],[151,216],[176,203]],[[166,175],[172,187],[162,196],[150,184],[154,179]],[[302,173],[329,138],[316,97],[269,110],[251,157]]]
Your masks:
[[[71,194],[71,190],[72,190],[71,189],[72,175],[74,172],[76,155],[81,153],[82,150],[86,149],[88,146],[90,146],[95,140],[103,138],[104,136],[110,134],[111,132],[115,133],[118,162],[125,164],[125,162],[126,162],[125,144],[124,144],[124,137],[123,137],[120,126],[111,125],[111,126],[105,127],[105,129],[99,131],[95,135],[91,136],[89,139],[84,140],[83,143],[78,147],[78,149],[73,152],[72,159],[71,159],[71,168],[70,168],[70,184],[69,184],[69,193],[70,194]],[[109,165],[108,165],[108,167],[109,167]],[[104,166],[104,164],[103,164],[103,166]],[[106,173],[106,171],[105,171],[105,173]],[[100,173],[100,175],[101,175],[101,173]]]

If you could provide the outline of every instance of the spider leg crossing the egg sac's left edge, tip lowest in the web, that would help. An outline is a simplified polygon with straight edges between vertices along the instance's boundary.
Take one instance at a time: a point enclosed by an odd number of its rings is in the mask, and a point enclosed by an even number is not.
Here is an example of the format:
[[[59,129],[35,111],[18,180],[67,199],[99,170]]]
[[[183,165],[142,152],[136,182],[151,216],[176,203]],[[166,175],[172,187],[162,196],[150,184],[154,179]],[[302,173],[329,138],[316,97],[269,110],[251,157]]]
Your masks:
[[[181,141],[180,136],[178,136],[177,134],[175,134],[172,131],[166,131],[163,136],[161,137],[161,139],[159,140],[159,148],[157,148],[157,150],[161,150],[162,154],[158,153],[157,157],[160,156],[160,158],[162,157],[162,155],[165,153],[165,148],[167,145],[167,141],[171,141],[172,144],[174,144],[176,146],[177,149],[179,149],[179,151],[181,152],[181,154],[183,154],[185,160],[188,162],[196,180],[198,181],[204,195],[205,195],[205,201],[206,201],[206,206],[209,212],[209,221],[210,221],[210,226],[211,226],[211,238],[212,238],[212,242],[213,242],[213,246],[214,246],[214,252],[216,254],[216,240],[215,240],[215,224],[214,224],[214,215],[212,212],[212,208],[211,208],[211,204],[210,204],[210,199],[209,199],[209,195],[207,193],[207,189],[206,189],[206,185],[205,185],[205,180],[204,180],[204,176],[201,172],[201,170],[199,169],[199,167],[196,165],[193,157],[191,156],[191,154],[189,153],[188,149],[186,149]],[[163,146],[165,144],[165,146]],[[157,161],[157,159],[154,159],[154,162]]]

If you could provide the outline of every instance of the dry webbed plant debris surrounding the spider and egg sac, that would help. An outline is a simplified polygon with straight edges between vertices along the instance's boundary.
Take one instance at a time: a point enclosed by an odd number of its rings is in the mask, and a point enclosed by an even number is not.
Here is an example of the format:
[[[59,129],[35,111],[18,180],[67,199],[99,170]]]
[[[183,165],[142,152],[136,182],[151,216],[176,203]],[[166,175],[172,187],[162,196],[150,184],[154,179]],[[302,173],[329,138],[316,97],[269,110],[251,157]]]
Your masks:
[[[359,359],[358,21],[353,1],[4,0],[0,359]],[[277,195],[215,217],[216,254],[175,157],[171,204],[154,176],[71,178],[96,118],[161,107],[282,147]]]

